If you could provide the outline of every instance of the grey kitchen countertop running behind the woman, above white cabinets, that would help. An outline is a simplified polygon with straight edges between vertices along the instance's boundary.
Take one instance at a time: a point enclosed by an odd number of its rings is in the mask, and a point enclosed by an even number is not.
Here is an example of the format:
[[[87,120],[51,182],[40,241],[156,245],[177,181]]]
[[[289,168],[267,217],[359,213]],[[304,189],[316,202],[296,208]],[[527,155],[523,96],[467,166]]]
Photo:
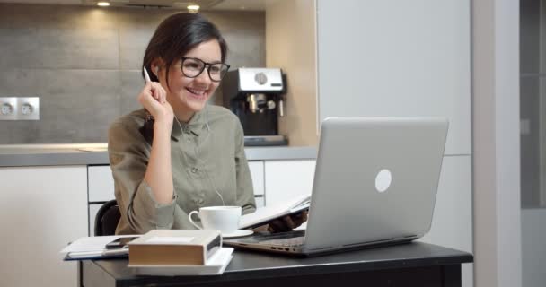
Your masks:
[[[106,143],[4,144],[0,167],[109,164]],[[248,161],[313,160],[313,146],[246,147]]]

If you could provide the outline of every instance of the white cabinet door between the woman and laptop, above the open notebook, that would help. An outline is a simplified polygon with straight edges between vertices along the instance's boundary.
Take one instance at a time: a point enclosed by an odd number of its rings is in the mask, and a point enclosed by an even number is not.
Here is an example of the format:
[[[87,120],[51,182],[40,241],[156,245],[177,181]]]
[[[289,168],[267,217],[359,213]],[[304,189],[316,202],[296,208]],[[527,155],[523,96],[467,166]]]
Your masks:
[[[314,166],[314,160],[265,161],[266,206],[310,195]]]

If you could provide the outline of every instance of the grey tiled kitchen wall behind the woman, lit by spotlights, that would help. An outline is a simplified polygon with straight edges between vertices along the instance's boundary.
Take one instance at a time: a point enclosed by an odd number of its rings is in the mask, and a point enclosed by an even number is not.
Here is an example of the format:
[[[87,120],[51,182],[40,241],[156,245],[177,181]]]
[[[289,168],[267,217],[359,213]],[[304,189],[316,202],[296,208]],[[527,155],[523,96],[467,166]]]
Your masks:
[[[40,97],[39,121],[0,121],[0,144],[106,142],[110,122],[139,109],[145,47],[172,13],[0,4],[0,97]],[[265,13],[203,14],[223,32],[233,68],[265,65]]]

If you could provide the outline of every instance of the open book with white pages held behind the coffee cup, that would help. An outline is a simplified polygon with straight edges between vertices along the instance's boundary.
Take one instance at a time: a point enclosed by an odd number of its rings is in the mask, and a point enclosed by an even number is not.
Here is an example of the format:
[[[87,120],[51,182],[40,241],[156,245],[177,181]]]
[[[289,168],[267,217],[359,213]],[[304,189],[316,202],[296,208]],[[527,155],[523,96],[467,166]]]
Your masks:
[[[309,209],[311,195],[298,196],[283,204],[260,207],[254,213],[242,215],[241,229],[254,228],[288,214],[295,214]]]

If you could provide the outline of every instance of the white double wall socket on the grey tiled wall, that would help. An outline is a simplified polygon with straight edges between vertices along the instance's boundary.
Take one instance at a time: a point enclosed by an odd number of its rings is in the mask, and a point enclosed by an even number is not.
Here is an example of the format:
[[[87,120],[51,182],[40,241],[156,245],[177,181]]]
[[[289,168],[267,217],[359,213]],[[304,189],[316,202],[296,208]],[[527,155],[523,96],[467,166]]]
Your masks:
[[[40,98],[0,97],[0,120],[40,120]]]

